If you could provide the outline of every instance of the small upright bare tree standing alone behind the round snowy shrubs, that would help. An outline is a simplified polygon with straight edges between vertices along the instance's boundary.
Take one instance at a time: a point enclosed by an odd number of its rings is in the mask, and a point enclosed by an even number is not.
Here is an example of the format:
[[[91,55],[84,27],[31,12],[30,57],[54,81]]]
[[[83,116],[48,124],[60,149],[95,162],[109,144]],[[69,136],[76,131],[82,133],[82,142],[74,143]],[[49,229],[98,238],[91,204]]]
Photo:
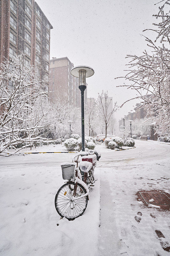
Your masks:
[[[108,93],[99,94],[99,111],[103,124],[105,125],[105,138],[107,137],[107,128],[113,119],[113,113],[118,109],[117,102],[114,103],[113,109],[110,109],[111,100],[108,99]]]

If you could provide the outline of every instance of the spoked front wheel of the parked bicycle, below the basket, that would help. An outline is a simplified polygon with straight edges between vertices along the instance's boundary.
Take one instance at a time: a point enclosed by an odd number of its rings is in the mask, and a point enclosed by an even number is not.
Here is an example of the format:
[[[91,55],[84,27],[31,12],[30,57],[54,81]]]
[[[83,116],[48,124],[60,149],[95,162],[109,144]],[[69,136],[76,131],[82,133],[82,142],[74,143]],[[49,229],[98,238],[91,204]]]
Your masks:
[[[61,217],[65,217],[68,220],[74,220],[75,218],[81,216],[88,202],[87,192],[81,184],[77,184],[76,195],[73,197],[74,193],[74,182],[67,182],[61,188],[58,189],[55,196],[55,209]],[[79,198],[80,196],[83,196]]]

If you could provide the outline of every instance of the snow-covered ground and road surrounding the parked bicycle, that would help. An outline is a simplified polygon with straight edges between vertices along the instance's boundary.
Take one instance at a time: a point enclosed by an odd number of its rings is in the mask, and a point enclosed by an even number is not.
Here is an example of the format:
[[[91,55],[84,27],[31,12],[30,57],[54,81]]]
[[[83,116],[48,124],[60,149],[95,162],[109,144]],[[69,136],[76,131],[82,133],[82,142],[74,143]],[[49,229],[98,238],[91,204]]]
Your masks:
[[[84,214],[73,221],[60,220],[54,198],[63,185],[60,163],[74,153],[1,156],[0,255],[169,255],[155,233],[168,241],[169,213],[139,204],[136,193],[168,190],[161,177],[169,175],[170,146],[135,142],[136,148],[121,151],[96,146],[102,153],[98,181]]]

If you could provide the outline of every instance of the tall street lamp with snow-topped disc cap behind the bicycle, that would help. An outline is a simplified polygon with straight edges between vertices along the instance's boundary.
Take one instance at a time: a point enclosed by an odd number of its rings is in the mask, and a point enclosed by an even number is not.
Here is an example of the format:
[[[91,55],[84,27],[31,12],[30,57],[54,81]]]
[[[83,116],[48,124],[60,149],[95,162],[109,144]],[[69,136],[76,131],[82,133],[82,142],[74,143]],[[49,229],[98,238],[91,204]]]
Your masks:
[[[85,151],[85,110],[84,110],[84,91],[86,89],[85,78],[94,75],[94,70],[88,66],[76,66],[71,69],[71,75],[79,77],[78,88],[81,91],[81,138],[82,151]]]

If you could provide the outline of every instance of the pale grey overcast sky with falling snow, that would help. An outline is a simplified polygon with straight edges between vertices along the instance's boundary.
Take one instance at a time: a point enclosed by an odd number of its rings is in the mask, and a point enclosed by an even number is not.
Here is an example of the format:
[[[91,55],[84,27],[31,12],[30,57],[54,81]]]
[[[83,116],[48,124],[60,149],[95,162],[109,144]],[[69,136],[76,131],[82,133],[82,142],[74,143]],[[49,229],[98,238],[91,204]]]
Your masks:
[[[144,37],[152,32],[158,12],[154,0],[36,0],[53,26],[51,29],[52,57],[68,57],[75,65],[91,66],[95,73],[87,78],[87,96],[97,98],[98,92],[108,95],[121,105],[134,96],[132,90],[116,88],[125,82],[115,80],[125,75],[127,54],[141,55],[147,48]],[[133,109],[135,102],[124,105],[116,118]]]

